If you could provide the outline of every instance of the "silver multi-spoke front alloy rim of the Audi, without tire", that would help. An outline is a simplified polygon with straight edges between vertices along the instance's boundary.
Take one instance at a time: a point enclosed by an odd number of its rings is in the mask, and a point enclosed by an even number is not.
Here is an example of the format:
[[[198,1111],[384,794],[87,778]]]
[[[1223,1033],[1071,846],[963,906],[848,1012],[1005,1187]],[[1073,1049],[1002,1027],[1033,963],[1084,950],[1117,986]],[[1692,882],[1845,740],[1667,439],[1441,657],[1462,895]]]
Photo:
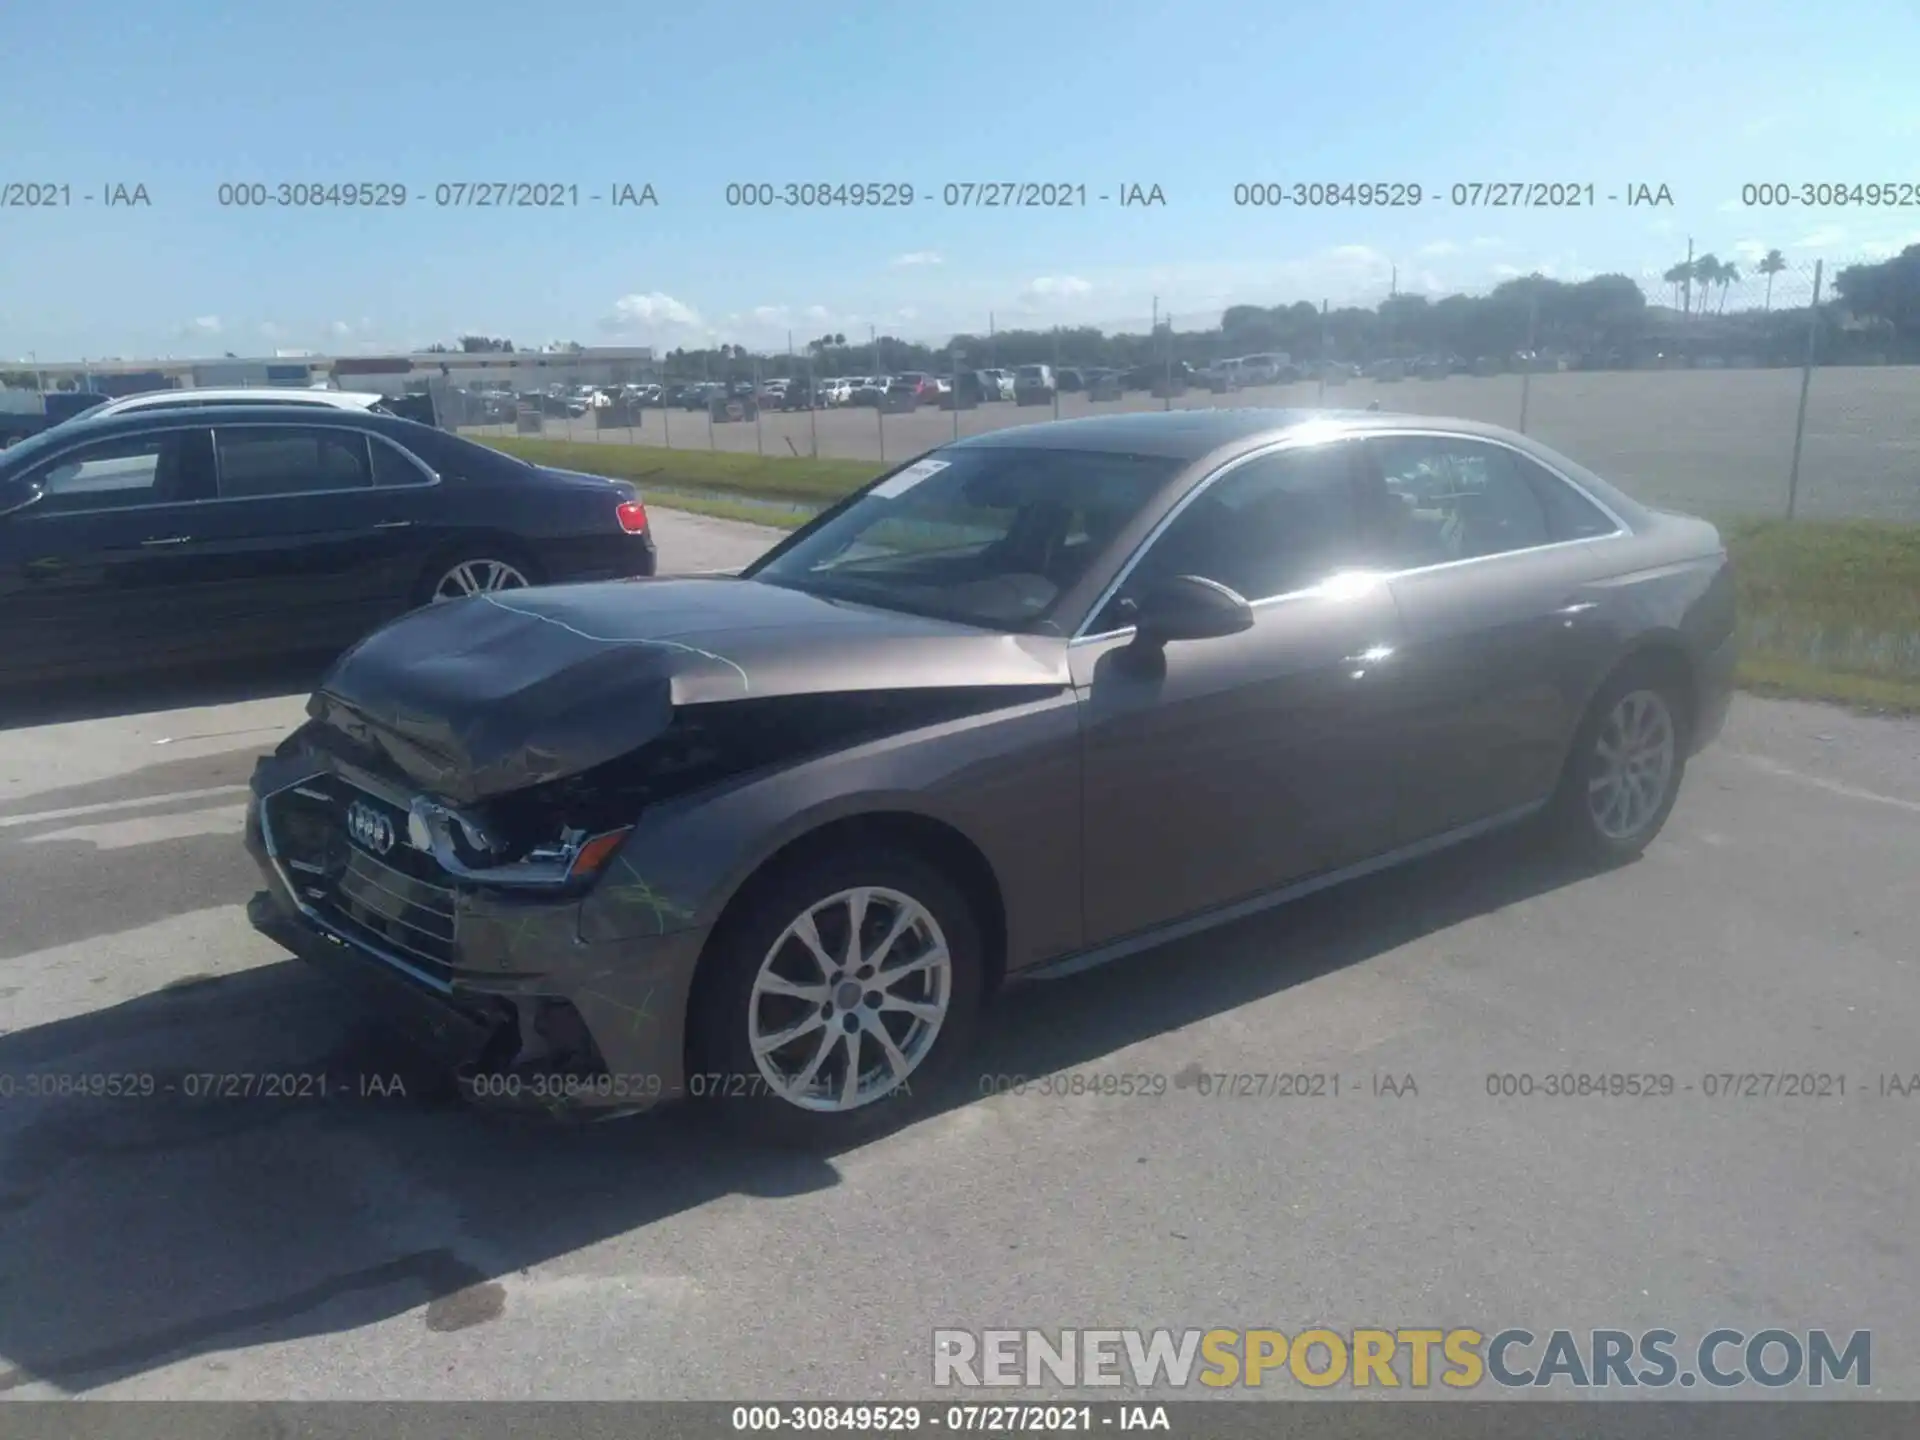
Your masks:
[[[768,948],[747,1041],[768,1087],[801,1110],[858,1110],[933,1050],[952,1002],[952,956],[927,906],[856,887],[810,904]]]

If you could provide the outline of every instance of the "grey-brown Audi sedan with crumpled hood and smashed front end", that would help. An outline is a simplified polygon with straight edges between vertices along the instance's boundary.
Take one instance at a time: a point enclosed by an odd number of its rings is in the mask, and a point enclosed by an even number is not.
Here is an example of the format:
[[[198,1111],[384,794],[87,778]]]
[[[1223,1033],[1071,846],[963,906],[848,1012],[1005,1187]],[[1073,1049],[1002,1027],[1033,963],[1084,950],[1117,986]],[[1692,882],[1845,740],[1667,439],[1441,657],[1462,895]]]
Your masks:
[[[1498,826],[1638,854],[1732,636],[1713,526],[1492,426],[1000,430],[739,576],[372,634],[259,762],[250,912],[480,1100],[839,1142],[1008,979]]]

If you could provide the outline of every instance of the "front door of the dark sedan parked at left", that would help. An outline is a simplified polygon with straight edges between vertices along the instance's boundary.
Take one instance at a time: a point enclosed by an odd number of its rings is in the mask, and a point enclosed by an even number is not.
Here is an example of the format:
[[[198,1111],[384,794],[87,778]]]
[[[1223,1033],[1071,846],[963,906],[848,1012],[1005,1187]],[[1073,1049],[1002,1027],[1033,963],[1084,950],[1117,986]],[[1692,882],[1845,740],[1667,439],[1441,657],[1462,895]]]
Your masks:
[[[188,536],[211,509],[211,440],[136,430],[48,457],[42,497],[0,516],[0,672],[119,668],[219,649]]]

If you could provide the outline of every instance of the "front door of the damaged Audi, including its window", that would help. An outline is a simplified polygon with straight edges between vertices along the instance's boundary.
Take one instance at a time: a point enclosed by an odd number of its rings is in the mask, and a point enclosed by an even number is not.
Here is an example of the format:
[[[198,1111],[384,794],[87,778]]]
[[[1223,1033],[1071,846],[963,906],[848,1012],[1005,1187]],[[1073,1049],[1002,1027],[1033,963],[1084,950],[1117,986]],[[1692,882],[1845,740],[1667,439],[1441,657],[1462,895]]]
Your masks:
[[[1254,603],[1254,626],[1125,653],[1073,645],[1085,745],[1087,943],[1102,945],[1338,870],[1388,847],[1400,622],[1371,555],[1352,442],[1238,461],[1148,549],[1096,616],[1198,574]]]

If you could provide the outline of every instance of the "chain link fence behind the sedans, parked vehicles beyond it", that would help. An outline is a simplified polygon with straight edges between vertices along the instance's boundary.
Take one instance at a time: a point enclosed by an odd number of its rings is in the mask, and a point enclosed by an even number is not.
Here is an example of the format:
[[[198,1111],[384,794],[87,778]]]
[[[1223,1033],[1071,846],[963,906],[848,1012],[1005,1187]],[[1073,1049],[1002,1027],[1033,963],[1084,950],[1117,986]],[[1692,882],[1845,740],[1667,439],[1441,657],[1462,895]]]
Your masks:
[[[1836,269],[1741,275],[1699,257],[1638,286],[1517,276],[1469,298],[1386,284],[1071,326],[989,321],[933,340],[668,355],[622,386],[436,384],[434,401],[472,436],[876,463],[1081,415],[1377,407],[1523,430],[1655,505],[1920,520],[1920,353],[1837,301]]]

